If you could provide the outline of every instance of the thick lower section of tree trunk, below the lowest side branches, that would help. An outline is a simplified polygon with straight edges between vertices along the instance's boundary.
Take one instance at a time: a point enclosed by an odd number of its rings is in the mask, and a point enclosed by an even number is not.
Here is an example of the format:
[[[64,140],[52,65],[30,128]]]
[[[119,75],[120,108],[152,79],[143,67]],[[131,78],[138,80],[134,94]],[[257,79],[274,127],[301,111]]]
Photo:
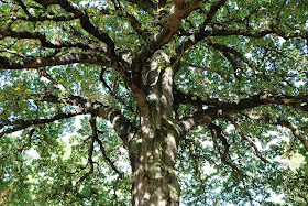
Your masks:
[[[130,144],[132,205],[179,205],[179,184],[175,173],[177,132],[168,123],[139,133]]]

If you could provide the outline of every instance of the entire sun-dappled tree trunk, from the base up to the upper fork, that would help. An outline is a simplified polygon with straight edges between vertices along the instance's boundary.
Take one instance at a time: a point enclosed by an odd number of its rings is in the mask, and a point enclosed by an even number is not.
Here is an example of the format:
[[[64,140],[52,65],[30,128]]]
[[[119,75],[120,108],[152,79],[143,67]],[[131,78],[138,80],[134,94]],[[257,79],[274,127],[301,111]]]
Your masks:
[[[173,118],[173,69],[152,62],[143,72],[141,126],[130,141],[132,205],[179,205],[175,161],[179,130]],[[162,59],[162,58],[161,58]]]

